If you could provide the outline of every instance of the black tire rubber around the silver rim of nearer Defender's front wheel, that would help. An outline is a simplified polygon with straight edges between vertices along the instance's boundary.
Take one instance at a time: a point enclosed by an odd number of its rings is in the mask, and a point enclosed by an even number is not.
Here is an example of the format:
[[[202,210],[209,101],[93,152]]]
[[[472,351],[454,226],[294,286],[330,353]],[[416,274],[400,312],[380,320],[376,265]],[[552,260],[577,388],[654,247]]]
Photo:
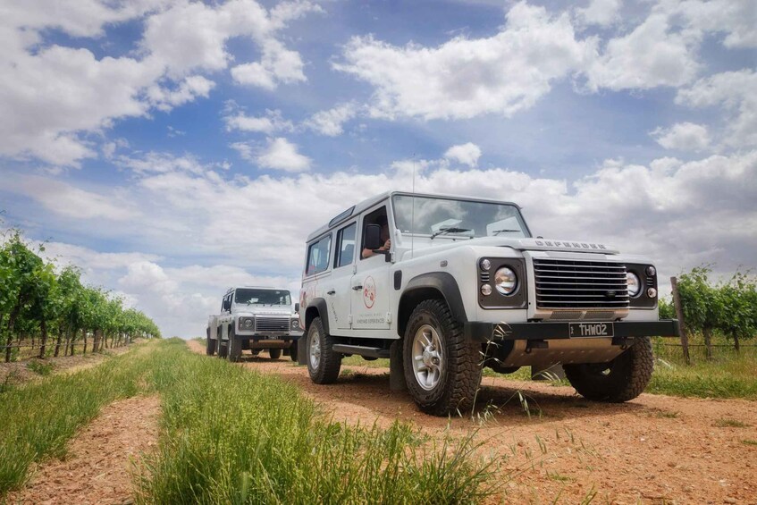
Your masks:
[[[442,343],[442,373],[431,391],[421,387],[413,368],[413,339],[424,324],[433,327]],[[475,391],[481,383],[480,351],[480,344],[466,342],[462,325],[455,321],[444,301],[427,299],[419,303],[408,320],[402,349],[405,381],[417,406],[433,416],[462,413],[472,408]]]

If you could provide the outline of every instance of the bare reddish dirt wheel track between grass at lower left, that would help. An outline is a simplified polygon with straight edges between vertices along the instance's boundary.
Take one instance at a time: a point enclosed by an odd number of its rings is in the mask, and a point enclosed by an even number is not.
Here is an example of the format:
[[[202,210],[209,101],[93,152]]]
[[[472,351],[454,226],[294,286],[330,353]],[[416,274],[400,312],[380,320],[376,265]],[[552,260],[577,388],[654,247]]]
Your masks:
[[[68,445],[68,457],[41,463],[8,503],[122,504],[132,496],[132,465],[156,447],[160,400],[134,397],[106,406]]]

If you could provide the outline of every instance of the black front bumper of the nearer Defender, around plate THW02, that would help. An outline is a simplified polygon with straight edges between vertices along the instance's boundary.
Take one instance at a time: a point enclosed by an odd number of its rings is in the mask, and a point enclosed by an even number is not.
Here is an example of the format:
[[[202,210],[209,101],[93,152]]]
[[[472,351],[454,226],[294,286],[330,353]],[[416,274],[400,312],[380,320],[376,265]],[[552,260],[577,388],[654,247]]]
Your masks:
[[[595,324],[594,322],[586,322]],[[585,324],[583,321],[575,323],[533,322],[533,323],[481,323],[478,321],[463,324],[463,332],[467,341],[487,342],[492,340],[506,341],[551,341],[576,338],[571,336],[571,324]],[[612,324],[612,337],[628,339],[632,337],[677,337],[677,319],[663,319],[661,321],[619,321],[607,322]],[[578,337],[592,338],[592,337]]]

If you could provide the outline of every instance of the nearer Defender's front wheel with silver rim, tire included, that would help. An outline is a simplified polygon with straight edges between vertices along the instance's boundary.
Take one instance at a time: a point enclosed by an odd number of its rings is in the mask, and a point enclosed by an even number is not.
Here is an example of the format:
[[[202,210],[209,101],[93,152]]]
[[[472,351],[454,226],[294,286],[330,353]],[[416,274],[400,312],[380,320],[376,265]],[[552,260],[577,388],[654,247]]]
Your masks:
[[[417,406],[434,416],[473,407],[481,383],[481,346],[466,342],[462,327],[442,300],[418,304],[403,343],[408,391]]]

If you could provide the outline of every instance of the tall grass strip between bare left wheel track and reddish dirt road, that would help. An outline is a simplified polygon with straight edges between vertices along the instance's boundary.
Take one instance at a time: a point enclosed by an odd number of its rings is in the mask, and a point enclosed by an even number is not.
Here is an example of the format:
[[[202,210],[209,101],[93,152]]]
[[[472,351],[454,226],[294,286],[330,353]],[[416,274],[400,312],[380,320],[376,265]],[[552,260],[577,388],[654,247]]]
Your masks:
[[[408,425],[333,423],[294,385],[181,345],[154,353],[164,355],[150,379],[164,417],[139,503],[460,502],[492,492],[492,464],[475,457],[471,437],[435,447]]]

